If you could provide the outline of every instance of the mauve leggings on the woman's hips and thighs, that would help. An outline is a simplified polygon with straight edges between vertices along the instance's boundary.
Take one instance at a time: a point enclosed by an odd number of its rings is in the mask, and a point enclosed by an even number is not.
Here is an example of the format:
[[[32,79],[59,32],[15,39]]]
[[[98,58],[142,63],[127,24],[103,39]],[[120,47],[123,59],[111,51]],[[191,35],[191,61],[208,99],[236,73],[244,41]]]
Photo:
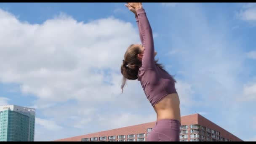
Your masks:
[[[179,141],[179,120],[163,119],[156,122],[147,141]]]

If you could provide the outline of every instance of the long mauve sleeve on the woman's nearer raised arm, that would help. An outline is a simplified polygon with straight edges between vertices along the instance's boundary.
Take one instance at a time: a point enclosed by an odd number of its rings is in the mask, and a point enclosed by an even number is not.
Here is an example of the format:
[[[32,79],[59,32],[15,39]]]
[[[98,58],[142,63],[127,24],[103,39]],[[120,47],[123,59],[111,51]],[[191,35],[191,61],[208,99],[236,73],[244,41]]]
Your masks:
[[[143,8],[137,10],[137,15],[139,19],[139,29],[144,46],[142,67],[144,67],[144,69],[152,69],[155,68],[155,48],[152,29],[147,19],[146,12]]]

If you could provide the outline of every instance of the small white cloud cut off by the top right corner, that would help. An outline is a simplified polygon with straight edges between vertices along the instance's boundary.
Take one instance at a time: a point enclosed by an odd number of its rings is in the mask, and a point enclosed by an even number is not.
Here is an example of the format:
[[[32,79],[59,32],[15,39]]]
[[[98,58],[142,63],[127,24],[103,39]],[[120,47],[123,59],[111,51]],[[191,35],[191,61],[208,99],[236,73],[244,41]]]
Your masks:
[[[248,3],[244,5],[237,16],[244,21],[256,21],[256,4]]]

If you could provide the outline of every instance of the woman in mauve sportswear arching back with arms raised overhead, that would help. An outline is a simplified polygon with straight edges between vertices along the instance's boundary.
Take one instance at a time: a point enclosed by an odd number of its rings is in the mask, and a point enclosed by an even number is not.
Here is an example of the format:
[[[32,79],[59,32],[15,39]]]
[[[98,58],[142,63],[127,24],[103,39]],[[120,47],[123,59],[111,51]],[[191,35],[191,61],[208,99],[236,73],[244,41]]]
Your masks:
[[[155,61],[152,29],[141,3],[125,4],[135,14],[141,43],[132,44],[124,55],[121,73],[122,91],[126,79],[141,82],[141,86],[157,113],[155,127],[149,133],[148,141],[179,141],[180,108],[179,96],[171,75]]]

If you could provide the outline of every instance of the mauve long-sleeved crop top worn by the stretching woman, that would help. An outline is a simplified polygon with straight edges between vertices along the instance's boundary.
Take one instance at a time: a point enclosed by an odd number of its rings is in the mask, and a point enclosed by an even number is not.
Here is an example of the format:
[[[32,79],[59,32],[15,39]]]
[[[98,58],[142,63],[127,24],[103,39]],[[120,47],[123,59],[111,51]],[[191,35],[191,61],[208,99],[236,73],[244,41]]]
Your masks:
[[[177,93],[175,82],[171,75],[155,64],[155,48],[152,29],[143,8],[137,10],[136,22],[139,27],[141,43],[144,46],[142,66],[139,68],[138,80],[147,99],[154,107],[160,100],[170,93]]]

